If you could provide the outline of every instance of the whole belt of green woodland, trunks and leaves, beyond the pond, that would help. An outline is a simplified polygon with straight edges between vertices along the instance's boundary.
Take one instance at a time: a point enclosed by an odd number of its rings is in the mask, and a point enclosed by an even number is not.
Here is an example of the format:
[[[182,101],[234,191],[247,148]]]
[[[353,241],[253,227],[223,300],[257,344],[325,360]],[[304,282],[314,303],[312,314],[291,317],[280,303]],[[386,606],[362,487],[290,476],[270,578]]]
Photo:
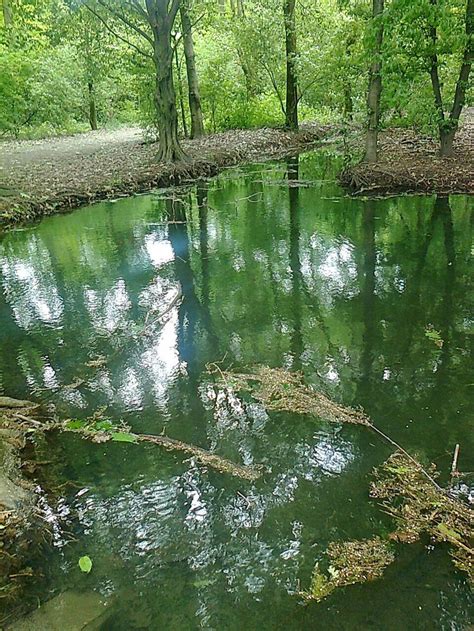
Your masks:
[[[3,0],[0,132],[180,138],[307,120],[440,137],[473,102],[474,0]]]

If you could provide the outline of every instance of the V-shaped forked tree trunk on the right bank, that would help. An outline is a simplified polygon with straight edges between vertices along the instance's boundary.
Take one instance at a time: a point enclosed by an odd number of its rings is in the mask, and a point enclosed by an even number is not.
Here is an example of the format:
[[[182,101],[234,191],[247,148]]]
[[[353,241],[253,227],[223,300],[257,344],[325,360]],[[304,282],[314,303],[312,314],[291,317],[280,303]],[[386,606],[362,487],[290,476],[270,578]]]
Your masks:
[[[438,0],[430,1],[432,6],[437,9]],[[459,71],[459,77],[456,83],[456,89],[454,92],[453,105],[448,116],[445,115],[444,111],[443,95],[439,76],[439,61],[437,53],[438,31],[436,27],[436,13],[434,17],[435,19],[430,26],[430,37],[432,42],[430,77],[438,119],[440,155],[443,157],[449,157],[453,155],[454,137],[459,127],[459,117],[461,116],[462,108],[464,106],[466,90],[469,82],[469,75],[471,73],[471,66],[474,61],[474,0],[467,0],[466,4],[466,41],[464,45],[464,54]]]

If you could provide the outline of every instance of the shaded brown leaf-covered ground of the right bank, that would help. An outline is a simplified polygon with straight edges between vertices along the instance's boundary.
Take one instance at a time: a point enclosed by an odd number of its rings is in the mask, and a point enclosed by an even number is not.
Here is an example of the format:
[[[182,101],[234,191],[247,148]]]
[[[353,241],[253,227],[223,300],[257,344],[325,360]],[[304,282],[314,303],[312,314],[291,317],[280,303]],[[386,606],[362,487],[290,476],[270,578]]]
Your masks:
[[[466,112],[452,158],[440,158],[438,141],[406,129],[381,134],[380,162],[357,164],[341,183],[357,195],[474,193],[474,109]]]

